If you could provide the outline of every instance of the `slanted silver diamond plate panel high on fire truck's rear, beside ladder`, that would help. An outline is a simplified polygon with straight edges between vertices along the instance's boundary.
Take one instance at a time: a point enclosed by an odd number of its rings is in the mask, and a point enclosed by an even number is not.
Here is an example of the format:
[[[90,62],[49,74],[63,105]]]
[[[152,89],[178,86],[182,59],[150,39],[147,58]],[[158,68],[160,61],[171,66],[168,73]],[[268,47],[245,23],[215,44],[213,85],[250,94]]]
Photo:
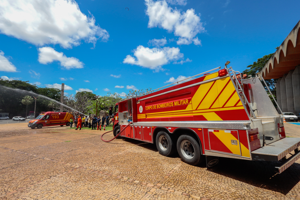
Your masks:
[[[243,82],[251,85],[250,101],[256,103],[258,117],[279,116],[258,77],[245,79]]]

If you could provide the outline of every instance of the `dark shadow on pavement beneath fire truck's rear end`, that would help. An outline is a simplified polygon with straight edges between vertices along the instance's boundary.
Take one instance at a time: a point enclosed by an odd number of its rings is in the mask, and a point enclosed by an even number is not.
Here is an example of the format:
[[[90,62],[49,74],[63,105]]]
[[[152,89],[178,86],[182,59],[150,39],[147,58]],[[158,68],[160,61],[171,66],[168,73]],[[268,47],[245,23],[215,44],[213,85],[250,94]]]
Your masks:
[[[210,171],[286,195],[300,181],[300,164],[294,163],[281,174],[277,174],[274,167],[279,163],[221,158],[220,164]]]

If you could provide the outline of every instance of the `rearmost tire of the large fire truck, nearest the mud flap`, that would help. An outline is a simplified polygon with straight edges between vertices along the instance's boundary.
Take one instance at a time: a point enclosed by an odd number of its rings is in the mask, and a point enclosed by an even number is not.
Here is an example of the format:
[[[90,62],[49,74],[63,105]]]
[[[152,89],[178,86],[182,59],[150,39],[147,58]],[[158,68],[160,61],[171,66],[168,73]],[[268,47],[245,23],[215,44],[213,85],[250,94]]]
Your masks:
[[[177,151],[181,159],[187,164],[198,165],[203,160],[200,145],[192,136],[179,136],[177,140]]]

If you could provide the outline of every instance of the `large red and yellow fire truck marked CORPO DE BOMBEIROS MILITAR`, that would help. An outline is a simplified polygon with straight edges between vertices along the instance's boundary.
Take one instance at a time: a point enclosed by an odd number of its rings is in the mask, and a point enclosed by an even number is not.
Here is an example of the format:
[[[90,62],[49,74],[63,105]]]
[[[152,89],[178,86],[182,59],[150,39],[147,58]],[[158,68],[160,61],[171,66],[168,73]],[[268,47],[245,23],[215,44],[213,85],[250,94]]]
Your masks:
[[[206,159],[210,168],[219,157],[280,161],[275,170],[283,172],[300,158],[300,138],[286,138],[262,77],[245,79],[226,64],[123,99],[115,107],[114,135],[132,122],[120,136],[154,143],[164,156],[178,151],[191,165]]]

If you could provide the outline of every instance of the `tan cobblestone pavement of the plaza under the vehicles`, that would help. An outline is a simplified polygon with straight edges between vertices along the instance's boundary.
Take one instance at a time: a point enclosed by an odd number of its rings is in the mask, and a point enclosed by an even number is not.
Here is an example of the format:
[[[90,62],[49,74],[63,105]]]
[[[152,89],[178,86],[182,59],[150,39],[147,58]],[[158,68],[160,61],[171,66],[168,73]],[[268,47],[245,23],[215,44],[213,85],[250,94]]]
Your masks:
[[[0,199],[300,199],[300,160],[282,174],[276,162],[235,159],[206,170],[153,144],[103,142],[104,132],[0,125]]]

